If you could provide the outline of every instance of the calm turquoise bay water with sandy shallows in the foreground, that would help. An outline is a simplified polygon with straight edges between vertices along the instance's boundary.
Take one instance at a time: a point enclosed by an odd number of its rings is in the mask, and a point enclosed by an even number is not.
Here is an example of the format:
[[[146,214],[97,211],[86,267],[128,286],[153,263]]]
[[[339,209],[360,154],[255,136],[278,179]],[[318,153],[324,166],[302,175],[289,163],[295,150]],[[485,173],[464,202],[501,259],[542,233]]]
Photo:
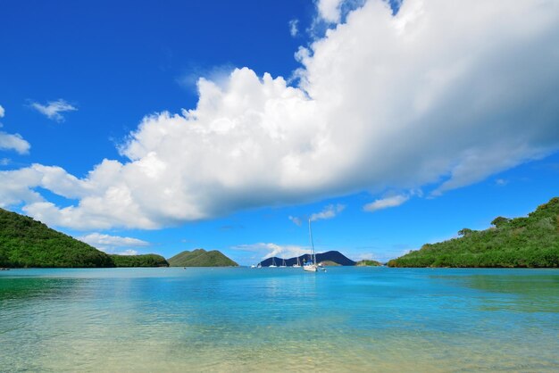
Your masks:
[[[557,269],[12,269],[0,371],[558,371]]]

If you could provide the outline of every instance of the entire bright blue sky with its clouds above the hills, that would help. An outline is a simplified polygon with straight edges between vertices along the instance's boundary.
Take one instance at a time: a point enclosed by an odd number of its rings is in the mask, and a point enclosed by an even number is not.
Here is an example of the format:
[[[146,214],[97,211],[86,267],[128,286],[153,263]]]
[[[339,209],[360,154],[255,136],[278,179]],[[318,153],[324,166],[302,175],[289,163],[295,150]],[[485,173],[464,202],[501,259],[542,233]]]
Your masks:
[[[559,2],[2,0],[0,207],[388,261],[559,195]]]

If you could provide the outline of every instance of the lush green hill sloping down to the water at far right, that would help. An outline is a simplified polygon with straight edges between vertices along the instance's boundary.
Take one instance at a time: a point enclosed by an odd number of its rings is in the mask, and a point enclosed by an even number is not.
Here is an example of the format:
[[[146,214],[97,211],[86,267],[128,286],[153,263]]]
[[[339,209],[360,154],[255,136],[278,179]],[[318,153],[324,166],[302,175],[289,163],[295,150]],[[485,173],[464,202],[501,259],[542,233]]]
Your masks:
[[[461,236],[388,261],[390,267],[559,267],[559,198],[528,217],[498,217],[486,230],[463,228]]]

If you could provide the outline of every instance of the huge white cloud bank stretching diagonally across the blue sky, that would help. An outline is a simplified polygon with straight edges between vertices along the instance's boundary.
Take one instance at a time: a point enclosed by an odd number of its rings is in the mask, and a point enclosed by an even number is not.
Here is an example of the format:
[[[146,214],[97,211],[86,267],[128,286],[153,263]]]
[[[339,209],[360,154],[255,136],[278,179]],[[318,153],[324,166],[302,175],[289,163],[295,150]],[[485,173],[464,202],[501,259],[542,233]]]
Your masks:
[[[18,189],[0,174],[3,203],[71,228],[159,228],[363,190],[438,195],[559,149],[558,2],[407,0],[393,16],[371,0],[344,17],[297,54],[298,87],[246,68],[200,79],[196,108],[142,120],[127,162],[86,178],[36,167],[52,179]],[[43,201],[45,185],[79,202]]]

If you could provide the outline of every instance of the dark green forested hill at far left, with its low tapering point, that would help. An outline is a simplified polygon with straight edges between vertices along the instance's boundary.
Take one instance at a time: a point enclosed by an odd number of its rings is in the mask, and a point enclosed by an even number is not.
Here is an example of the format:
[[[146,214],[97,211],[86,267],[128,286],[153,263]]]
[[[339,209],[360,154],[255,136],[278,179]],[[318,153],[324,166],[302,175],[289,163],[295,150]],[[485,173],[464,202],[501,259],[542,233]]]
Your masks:
[[[163,262],[154,254],[108,255],[40,221],[0,209],[0,267],[155,267]]]

